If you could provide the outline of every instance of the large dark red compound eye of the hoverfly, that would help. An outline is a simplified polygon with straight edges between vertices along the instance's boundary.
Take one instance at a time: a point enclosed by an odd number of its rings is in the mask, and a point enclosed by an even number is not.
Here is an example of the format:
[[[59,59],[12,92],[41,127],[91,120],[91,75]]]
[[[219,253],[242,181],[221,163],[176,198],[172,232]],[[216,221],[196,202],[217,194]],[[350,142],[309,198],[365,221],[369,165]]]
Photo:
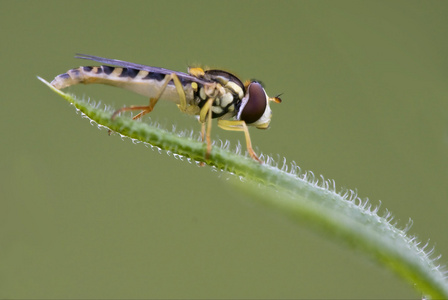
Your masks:
[[[267,100],[263,87],[258,82],[252,82],[248,89],[249,99],[243,107],[240,120],[247,124],[258,121],[266,110]]]

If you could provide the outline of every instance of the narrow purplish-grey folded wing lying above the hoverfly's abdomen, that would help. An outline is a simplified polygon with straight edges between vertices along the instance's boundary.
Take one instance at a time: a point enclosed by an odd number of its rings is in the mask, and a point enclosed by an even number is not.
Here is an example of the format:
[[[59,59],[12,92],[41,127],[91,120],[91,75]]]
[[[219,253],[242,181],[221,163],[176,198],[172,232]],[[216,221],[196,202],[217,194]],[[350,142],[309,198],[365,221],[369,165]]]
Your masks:
[[[143,70],[143,71],[148,71],[148,72],[153,72],[153,73],[160,73],[160,74],[173,74],[174,73],[181,79],[186,79],[186,80],[198,82],[201,84],[209,84],[210,83],[210,81],[199,79],[199,78],[189,75],[187,73],[177,72],[177,71],[168,70],[168,69],[159,68],[159,67],[151,67],[151,66],[146,66],[146,65],[134,64],[134,63],[130,63],[127,61],[118,60],[118,59],[109,59],[109,58],[88,55],[88,54],[79,54],[79,53],[76,53],[75,58],[88,59],[88,60],[97,61],[97,62],[103,63],[103,64],[110,64],[110,65],[114,65],[114,66],[118,66],[118,67],[132,68],[132,69]]]

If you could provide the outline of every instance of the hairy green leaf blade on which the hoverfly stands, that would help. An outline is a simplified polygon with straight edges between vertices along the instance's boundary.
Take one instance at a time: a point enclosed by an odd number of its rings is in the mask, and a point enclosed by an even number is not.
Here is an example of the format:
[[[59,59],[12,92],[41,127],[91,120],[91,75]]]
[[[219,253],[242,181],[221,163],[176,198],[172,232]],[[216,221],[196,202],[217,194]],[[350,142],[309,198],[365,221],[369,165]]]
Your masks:
[[[408,236],[410,225],[397,228],[387,210],[385,216],[379,216],[379,207],[372,207],[355,192],[338,192],[333,181],[322,177],[318,180],[312,172],[301,172],[295,163],[287,164],[286,160],[279,168],[270,157],[261,156],[265,163],[260,164],[216,146],[205,160],[206,146],[197,139],[130,118],[118,117],[112,121],[112,111],[65,94],[39,79],[99,127],[178,158],[235,174],[241,180],[234,183],[250,199],[360,250],[408,280],[425,296],[448,299],[446,272],[436,264],[440,256],[433,258],[434,249],[428,250],[428,244],[421,246],[415,237]]]

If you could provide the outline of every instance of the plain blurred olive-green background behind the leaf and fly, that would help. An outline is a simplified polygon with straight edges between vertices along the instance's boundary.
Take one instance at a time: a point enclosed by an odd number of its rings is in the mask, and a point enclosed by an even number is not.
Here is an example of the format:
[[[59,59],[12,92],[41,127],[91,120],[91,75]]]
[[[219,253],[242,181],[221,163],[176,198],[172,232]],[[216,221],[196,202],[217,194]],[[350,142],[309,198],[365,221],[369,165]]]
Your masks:
[[[108,136],[40,81],[76,52],[262,80],[258,152],[382,202],[448,255],[448,2],[1,1],[1,298],[411,298],[210,168]],[[146,99],[69,89],[121,107]],[[175,105],[151,115],[199,131]],[[233,144],[240,133],[217,129]]]

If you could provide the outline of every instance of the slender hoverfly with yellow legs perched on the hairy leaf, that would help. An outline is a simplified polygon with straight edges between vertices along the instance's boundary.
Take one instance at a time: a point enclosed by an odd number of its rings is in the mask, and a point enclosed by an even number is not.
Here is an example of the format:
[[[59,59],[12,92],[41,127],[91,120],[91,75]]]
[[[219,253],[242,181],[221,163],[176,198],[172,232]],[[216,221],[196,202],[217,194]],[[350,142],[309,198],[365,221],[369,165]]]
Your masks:
[[[202,141],[207,143],[205,159],[211,153],[211,120],[217,118],[220,128],[243,131],[250,157],[261,162],[252,148],[248,126],[267,129],[272,115],[269,102],[280,103],[281,99],[279,96],[268,97],[259,82],[246,81],[243,84],[235,75],[217,69],[189,68],[188,73],[182,73],[93,55],[77,54],[75,57],[107,65],[71,69],[56,76],[51,82],[55,88],[101,83],[149,98],[148,105],[118,109],[112,119],[125,111],[139,111],[133,117],[134,120],[139,119],[150,113],[159,99],[172,101],[180,111],[198,116],[202,124]]]

